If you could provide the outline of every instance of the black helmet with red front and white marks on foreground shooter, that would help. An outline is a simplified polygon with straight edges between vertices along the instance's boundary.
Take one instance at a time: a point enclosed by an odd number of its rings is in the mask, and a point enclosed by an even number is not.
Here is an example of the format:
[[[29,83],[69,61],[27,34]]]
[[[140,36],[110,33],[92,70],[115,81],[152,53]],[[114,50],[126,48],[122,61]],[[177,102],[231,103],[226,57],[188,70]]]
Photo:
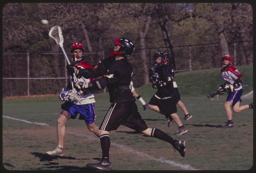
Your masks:
[[[120,46],[118,51],[115,51],[115,47]],[[132,55],[132,52],[135,50],[135,43],[127,38],[127,37],[121,37],[114,39],[113,42],[109,46],[109,56],[113,55],[125,55],[130,56]]]

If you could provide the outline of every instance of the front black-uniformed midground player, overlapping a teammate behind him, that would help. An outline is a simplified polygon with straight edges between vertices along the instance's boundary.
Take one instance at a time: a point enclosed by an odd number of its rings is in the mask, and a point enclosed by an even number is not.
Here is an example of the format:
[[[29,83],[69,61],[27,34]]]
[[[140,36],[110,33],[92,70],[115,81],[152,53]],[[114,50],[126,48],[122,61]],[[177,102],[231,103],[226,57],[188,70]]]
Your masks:
[[[156,94],[150,99],[148,107],[160,114],[164,114],[168,121],[168,127],[172,125],[172,120],[176,122],[179,129],[175,135],[182,135],[187,133],[184,125],[180,121],[177,112],[177,99],[175,97],[175,90],[173,88],[173,69],[166,65],[166,57],[163,52],[157,51],[154,56],[154,66],[156,69],[151,71],[150,82],[152,87],[157,89]]]

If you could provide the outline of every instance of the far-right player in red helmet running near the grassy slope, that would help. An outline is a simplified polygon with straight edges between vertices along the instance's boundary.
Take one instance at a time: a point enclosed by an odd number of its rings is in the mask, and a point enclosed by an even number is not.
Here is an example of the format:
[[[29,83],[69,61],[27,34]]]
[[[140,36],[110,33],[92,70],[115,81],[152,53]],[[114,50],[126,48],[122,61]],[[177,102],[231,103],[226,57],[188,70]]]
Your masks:
[[[228,122],[221,128],[234,127],[234,122],[232,121],[232,110],[230,106],[232,106],[234,113],[239,113],[246,109],[253,108],[253,103],[240,106],[240,102],[242,101],[241,95],[243,93],[241,80],[242,75],[239,73],[236,67],[231,66],[232,61],[233,59],[230,55],[225,55],[222,57],[221,66],[223,68],[220,70],[220,75],[225,83],[219,87],[218,94],[224,94],[224,91],[228,92],[228,97],[224,104]]]

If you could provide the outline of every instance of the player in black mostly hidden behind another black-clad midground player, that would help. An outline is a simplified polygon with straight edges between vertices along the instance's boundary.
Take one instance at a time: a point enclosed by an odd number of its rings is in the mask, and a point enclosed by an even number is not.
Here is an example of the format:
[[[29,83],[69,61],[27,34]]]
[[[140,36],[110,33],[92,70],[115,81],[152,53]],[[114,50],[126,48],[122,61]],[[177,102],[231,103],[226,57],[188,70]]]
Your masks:
[[[165,56],[165,59],[166,59],[164,64],[169,66],[169,68],[171,69],[171,73],[173,74],[173,82],[172,82],[172,84],[173,84],[173,88],[174,88],[174,96],[177,99],[177,104],[180,106],[180,109],[184,112],[184,120],[189,120],[190,118],[192,118],[192,115],[189,114],[186,106],[180,100],[180,93],[179,93],[179,90],[178,90],[178,86],[177,86],[176,82],[174,81],[174,69],[173,69],[171,63],[169,62],[169,54],[165,53],[165,52],[163,52],[163,53],[164,53],[164,56]],[[168,120],[168,127],[170,127],[169,125],[170,125],[171,121],[170,121],[169,118],[167,118],[167,120]]]

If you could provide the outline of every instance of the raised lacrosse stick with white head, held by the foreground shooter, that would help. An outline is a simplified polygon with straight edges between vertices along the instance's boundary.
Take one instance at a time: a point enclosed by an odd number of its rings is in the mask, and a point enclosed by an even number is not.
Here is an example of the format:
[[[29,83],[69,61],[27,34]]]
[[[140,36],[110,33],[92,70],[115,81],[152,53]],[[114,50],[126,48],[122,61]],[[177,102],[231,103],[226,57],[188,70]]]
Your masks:
[[[54,26],[51,28],[50,32],[49,32],[49,36],[56,41],[57,44],[60,45],[60,48],[61,50],[63,51],[64,55],[65,55],[65,58],[67,59],[67,62],[68,62],[68,65],[70,64],[70,61],[68,59],[68,56],[66,54],[66,51],[64,50],[63,48],[63,42],[64,42],[64,38],[63,38],[63,35],[62,35],[62,31],[61,31],[61,28],[60,26]],[[75,82],[78,81],[77,78],[76,78],[76,74],[73,73],[74,75],[74,79],[75,79]],[[72,83],[72,87],[74,88],[73,86],[73,83]]]

